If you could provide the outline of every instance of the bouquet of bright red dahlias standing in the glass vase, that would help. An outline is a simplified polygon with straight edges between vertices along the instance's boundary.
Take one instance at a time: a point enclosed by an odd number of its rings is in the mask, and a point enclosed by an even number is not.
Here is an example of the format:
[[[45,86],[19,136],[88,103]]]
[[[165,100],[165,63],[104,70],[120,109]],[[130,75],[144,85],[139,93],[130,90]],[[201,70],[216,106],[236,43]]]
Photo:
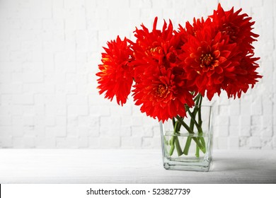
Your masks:
[[[252,46],[258,37],[252,32],[254,23],[241,9],[224,11],[220,4],[206,20],[194,18],[177,30],[171,21],[157,29],[156,17],[152,30],[143,24],[134,30],[135,41],[118,36],[103,47],[96,74],[99,93],[110,100],[116,96],[123,105],[132,92],[141,112],[161,122],[173,120],[175,133],[180,126],[200,133],[202,121],[195,116],[202,97],[212,100],[226,91],[229,98],[240,98],[262,77]],[[187,115],[190,126],[184,122]],[[204,140],[195,141],[204,152]]]

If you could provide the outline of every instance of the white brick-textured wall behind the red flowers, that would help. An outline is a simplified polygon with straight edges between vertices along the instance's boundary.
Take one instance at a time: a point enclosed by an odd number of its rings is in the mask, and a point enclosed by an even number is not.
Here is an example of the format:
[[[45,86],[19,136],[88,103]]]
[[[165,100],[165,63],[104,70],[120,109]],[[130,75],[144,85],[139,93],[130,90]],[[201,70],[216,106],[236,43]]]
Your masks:
[[[0,1],[1,148],[159,148],[159,124],[98,95],[102,46],[155,16],[173,24],[212,14],[218,1]],[[215,148],[276,148],[276,3],[221,1],[256,21],[263,79],[241,100],[218,100]],[[159,23],[161,25],[161,23]]]

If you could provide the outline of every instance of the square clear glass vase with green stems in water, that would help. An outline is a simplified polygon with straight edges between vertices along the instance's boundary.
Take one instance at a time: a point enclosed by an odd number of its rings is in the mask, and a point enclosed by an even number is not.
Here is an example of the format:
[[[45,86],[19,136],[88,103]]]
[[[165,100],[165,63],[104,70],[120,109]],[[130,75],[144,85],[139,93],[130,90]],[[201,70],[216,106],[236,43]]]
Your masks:
[[[187,117],[160,122],[163,167],[209,171],[212,162],[214,105],[186,107]]]

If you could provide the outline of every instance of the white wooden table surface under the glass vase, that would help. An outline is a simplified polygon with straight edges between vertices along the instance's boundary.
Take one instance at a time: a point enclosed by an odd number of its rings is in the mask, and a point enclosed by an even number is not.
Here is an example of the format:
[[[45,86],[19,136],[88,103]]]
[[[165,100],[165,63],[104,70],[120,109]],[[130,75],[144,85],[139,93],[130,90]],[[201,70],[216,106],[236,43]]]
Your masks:
[[[161,150],[1,149],[0,183],[276,183],[276,151],[213,151],[194,172],[165,170]]]

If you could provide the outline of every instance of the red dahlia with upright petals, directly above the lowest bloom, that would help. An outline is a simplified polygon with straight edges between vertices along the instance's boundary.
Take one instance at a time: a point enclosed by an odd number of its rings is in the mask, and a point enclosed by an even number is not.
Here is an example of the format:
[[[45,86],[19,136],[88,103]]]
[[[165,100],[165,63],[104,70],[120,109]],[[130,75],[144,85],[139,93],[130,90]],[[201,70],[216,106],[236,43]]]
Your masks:
[[[177,49],[178,37],[173,35],[173,25],[170,23],[167,26],[164,21],[163,29],[157,30],[157,17],[154,20],[154,27],[151,32],[144,26],[139,30],[134,31],[136,42],[129,41],[134,50],[134,78],[139,82],[139,78],[144,73],[144,69],[148,66],[165,66],[166,68],[178,66]]]

